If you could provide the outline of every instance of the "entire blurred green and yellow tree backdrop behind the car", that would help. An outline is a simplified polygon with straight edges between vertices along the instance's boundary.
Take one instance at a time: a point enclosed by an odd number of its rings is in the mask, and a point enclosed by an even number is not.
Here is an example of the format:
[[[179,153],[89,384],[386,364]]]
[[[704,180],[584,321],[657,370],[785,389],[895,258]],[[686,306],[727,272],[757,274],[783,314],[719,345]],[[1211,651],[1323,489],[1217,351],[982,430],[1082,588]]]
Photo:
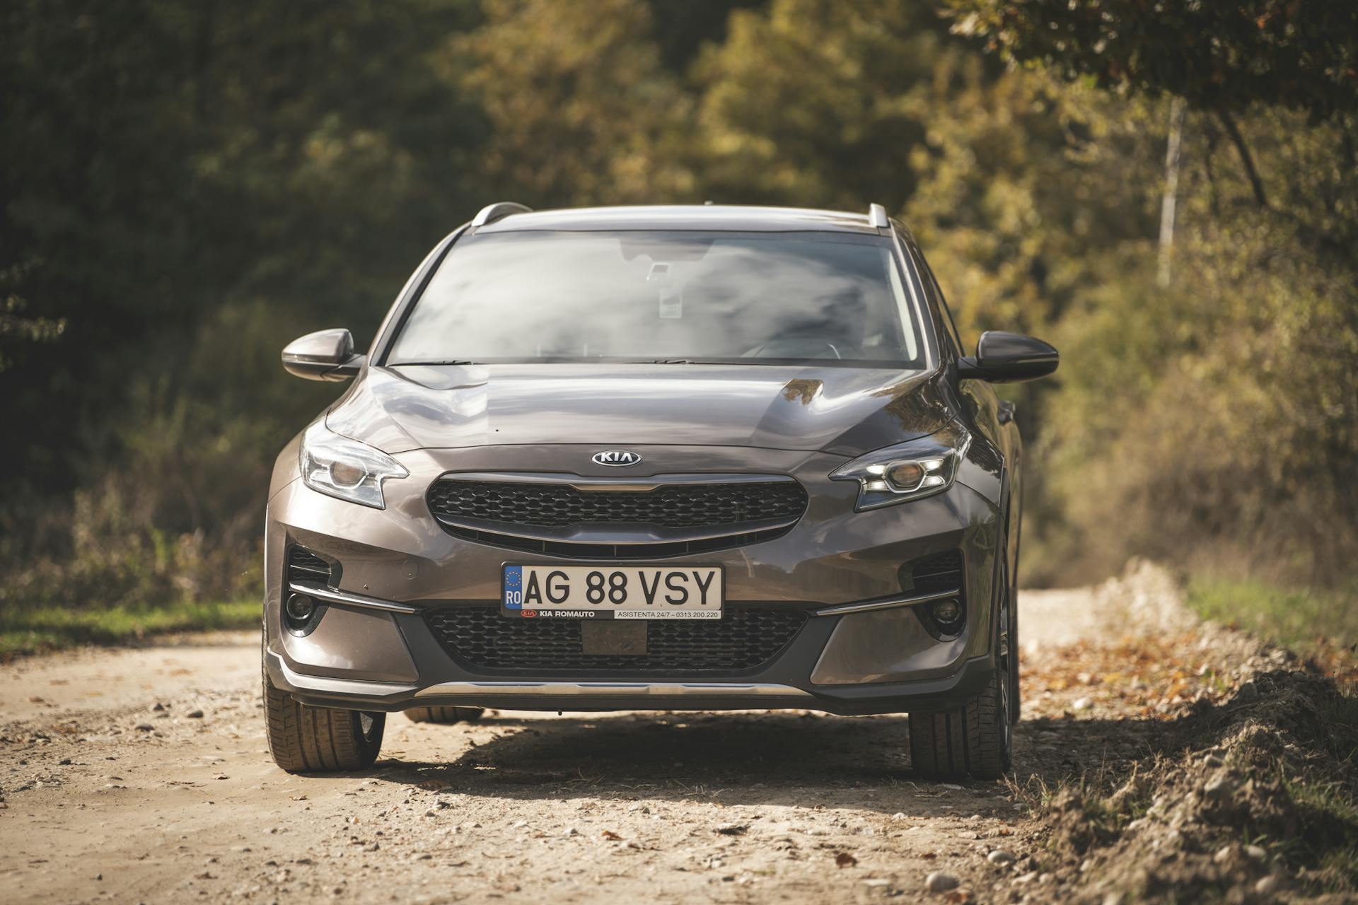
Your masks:
[[[967,342],[1065,351],[1008,391],[1029,578],[1141,552],[1338,579],[1358,541],[1354,8],[12,0],[0,605],[251,588],[273,455],[334,396],[277,350],[371,336],[498,198],[881,201]],[[1162,288],[1171,96],[1190,113]]]

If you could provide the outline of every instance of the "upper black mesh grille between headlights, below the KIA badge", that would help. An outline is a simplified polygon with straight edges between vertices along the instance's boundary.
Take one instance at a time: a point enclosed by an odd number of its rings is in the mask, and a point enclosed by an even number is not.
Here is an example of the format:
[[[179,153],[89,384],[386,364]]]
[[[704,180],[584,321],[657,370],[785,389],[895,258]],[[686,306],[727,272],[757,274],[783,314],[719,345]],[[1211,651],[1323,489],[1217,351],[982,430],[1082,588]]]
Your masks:
[[[580,490],[568,480],[448,476],[428,501],[454,536],[577,559],[729,550],[786,533],[807,510],[805,488],[788,478]]]

